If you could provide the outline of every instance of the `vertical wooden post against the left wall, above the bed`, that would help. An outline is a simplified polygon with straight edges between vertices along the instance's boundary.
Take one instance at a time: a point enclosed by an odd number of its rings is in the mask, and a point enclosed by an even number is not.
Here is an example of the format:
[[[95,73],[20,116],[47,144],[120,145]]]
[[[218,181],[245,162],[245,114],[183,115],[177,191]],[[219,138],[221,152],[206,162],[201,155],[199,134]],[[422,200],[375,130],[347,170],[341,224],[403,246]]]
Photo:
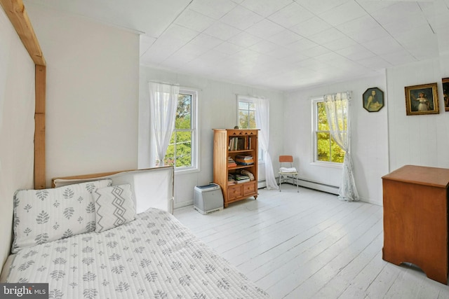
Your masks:
[[[45,160],[45,99],[46,67],[36,65],[35,69],[36,106],[34,111],[34,189],[46,188]]]

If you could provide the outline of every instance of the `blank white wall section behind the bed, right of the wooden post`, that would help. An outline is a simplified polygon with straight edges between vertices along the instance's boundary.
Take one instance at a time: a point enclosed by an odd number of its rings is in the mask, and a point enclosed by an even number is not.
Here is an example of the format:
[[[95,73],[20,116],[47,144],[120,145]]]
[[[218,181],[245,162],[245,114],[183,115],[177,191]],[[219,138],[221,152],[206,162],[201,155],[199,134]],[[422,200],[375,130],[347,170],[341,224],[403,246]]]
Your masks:
[[[47,62],[46,177],[137,167],[139,36],[27,2]]]

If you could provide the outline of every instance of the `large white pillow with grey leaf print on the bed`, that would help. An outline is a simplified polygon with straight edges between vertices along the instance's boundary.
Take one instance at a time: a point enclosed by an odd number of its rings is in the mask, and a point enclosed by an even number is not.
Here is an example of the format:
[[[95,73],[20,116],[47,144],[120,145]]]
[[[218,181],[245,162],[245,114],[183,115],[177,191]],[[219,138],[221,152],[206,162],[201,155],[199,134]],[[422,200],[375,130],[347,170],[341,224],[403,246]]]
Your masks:
[[[90,181],[42,190],[18,190],[14,195],[12,253],[95,230],[92,192],[112,180]]]

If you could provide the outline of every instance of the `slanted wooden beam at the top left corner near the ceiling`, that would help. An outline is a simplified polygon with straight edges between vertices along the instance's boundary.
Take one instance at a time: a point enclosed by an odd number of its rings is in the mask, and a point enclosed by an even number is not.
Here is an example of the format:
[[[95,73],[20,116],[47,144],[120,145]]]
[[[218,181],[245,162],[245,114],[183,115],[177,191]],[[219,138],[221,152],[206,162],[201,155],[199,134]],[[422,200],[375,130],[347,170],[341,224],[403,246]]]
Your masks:
[[[39,46],[39,41],[37,41],[36,34],[34,34],[34,29],[29,21],[22,0],[0,0],[0,4],[11,24],[13,24],[15,31],[19,34],[23,46],[27,49],[34,64],[45,66],[46,62],[41,46]]]

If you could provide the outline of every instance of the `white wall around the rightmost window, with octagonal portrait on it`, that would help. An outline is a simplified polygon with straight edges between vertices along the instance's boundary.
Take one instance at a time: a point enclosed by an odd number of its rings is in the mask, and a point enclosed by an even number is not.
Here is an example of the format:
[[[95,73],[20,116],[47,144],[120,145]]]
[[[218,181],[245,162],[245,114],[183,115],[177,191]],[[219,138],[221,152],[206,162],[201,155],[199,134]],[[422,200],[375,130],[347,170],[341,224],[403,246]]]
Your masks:
[[[286,153],[295,157],[301,179],[340,186],[342,169],[313,163],[311,98],[351,90],[352,158],[356,186],[361,200],[382,204],[381,176],[389,172],[387,108],[378,112],[363,109],[363,92],[368,88],[384,91],[389,102],[384,76],[362,78],[308,90],[289,92],[284,104],[284,140]]]

